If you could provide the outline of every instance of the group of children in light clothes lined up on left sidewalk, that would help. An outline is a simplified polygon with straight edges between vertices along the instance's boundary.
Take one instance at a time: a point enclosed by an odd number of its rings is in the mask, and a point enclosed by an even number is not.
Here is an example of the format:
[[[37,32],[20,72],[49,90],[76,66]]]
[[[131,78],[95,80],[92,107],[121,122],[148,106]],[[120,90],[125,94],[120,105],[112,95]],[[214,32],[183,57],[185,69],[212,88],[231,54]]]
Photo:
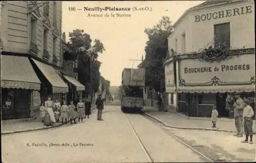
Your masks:
[[[40,106],[40,117],[42,123],[45,123],[46,121],[46,113],[48,112],[47,107],[45,107],[45,103],[41,103]],[[90,109],[90,108],[87,108]],[[67,101],[63,101],[63,104],[61,105],[58,100],[56,99],[55,103],[53,103],[52,110],[54,112],[54,117],[56,122],[59,122],[59,119],[61,119],[61,123],[63,123],[63,120],[65,119],[65,122],[67,124],[67,119],[70,119],[70,122],[74,120],[74,123],[76,124],[76,118],[78,118],[78,122],[81,122],[83,118],[86,118],[86,115],[89,118],[90,111],[86,111],[85,105],[82,102],[82,99],[79,99],[79,102],[77,103],[77,106],[74,105],[73,101],[70,101],[70,105],[67,105]]]

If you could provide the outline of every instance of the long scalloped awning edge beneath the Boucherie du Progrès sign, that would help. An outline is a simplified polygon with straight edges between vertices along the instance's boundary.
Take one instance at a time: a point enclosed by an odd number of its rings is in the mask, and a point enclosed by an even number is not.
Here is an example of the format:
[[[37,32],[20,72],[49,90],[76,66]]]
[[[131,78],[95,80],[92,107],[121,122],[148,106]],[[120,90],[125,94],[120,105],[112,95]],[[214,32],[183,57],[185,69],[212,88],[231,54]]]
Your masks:
[[[255,91],[255,84],[251,85],[225,85],[225,86],[182,86],[177,92],[251,92]]]

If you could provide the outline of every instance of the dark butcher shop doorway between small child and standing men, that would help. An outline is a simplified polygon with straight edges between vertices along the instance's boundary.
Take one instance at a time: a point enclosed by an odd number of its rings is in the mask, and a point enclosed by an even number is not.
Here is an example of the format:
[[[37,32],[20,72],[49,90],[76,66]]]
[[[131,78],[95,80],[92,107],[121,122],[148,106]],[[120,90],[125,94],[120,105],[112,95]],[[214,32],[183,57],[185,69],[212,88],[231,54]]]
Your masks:
[[[216,95],[216,105],[219,112],[219,117],[229,117],[229,111],[226,110],[227,93],[218,93]]]

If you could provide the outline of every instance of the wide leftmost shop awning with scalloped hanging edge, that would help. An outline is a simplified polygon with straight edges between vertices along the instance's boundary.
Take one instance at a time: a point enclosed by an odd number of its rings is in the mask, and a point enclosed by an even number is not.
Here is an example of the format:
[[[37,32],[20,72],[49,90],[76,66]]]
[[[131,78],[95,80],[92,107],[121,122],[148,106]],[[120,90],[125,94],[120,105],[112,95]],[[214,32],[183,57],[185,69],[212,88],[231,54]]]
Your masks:
[[[1,55],[1,87],[40,90],[40,83],[28,57]]]

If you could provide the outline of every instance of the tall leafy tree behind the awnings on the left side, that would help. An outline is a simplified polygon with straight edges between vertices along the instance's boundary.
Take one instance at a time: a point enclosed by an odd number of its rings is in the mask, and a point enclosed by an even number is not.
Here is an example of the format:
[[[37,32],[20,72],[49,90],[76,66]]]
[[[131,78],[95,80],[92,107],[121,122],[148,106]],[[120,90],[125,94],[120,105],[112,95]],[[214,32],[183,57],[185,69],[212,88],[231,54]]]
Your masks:
[[[94,40],[92,45],[91,36],[84,32],[84,30],[76,29],[69,33],[70,42],[67,43],[68,47],[76,53],[75,59],[78,59],[78,80],[86,86],[86,93],[90,94],[93,91],[97,92],[99,88],[100,79],[100,62],[97,60],[98,53],[105,51],[103,43],[99,39]],[[83,47],[90,50],[90,54],[78,51]],[[91,70],[91,64],[93,69]],[[91,76],[92,71],[92,76]]]

